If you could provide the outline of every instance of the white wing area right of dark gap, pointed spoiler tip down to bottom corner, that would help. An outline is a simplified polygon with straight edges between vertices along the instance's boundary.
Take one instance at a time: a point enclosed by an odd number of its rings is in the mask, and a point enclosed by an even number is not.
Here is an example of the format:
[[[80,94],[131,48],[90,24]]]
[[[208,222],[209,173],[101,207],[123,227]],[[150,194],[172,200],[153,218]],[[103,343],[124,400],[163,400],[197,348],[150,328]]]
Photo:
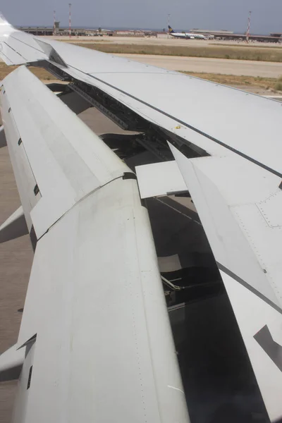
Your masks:
[[[280,178],[240,157],[188,159],[170,147],[221,271],[269,417],[275,421],[282,415]],[[265,325],[271,336],[264,347],[255,336]],[[268,355],[269,348],[274,348],[273,354]]]

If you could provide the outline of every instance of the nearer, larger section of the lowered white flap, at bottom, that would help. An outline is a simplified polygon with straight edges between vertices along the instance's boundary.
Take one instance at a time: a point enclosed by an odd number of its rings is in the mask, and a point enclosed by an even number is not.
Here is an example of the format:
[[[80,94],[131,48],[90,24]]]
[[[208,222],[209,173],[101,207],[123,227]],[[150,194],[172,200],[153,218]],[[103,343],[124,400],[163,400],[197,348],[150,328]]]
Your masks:
[[[32,333],[28,420],[188,422],[136,180],[104,185],[38,241],[19,345]]]

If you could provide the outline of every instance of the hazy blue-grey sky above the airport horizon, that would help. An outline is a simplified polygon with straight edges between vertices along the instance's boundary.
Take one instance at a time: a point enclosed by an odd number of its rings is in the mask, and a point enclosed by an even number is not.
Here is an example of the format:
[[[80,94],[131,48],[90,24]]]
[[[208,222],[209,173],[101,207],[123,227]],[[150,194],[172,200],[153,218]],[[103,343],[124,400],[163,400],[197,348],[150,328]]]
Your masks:
[[[1,12],[13,25],[52,25],[53,11],[68,25],[68,1],[6,0]],[[282,32],[282,0],[71,0],[74,26],[202,28],[252,33]]]

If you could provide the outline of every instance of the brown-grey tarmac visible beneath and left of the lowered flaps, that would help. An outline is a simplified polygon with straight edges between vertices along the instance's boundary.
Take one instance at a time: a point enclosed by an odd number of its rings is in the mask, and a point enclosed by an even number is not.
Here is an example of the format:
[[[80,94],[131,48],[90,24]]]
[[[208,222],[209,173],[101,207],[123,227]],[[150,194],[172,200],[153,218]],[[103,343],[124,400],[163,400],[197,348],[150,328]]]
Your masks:
[[[0,222],[18,207],[16,188],[7,147],[0,149]],[[0,353],[15,344],[20,328],[25,292],[32,264],[32,248],[28,236],[0,244]],[[0,384],[0,422],[11,421],[16,381]]]

